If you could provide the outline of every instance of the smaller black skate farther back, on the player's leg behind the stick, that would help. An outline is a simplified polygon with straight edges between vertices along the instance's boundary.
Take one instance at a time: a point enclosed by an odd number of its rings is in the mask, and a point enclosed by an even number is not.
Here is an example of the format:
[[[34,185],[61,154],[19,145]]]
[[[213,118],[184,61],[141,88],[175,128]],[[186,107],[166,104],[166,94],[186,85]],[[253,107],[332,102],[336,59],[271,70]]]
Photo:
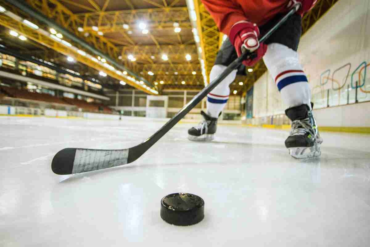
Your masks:
[[[188,139],[191,141],[212,141],[217,128],[217,119],[208,116],[204,111],[201,111],[204,120],[198,126],[189,128]]]

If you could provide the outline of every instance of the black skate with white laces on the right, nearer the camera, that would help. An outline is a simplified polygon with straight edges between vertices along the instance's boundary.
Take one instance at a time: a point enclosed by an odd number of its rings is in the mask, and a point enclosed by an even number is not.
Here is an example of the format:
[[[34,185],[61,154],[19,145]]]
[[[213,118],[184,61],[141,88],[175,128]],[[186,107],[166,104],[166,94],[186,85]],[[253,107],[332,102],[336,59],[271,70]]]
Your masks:
[[[323,140],[309,107],[306,104],[291,107],[285,110],[285,114],[292,120],[292,130],[285,140],[289,154],[294,158],[320,156],[320,144]]]

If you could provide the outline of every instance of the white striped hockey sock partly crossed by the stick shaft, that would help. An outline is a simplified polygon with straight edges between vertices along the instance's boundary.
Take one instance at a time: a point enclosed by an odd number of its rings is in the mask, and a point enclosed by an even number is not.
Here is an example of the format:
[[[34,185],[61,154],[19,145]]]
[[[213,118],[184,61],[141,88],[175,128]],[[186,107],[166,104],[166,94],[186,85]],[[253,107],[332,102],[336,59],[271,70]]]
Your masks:
[[[216,64],[212,67],[211,73],[209,74],[209,80],[213,81],[219,74],[226,69],[226,66]],[[229,85],[233,82],[236,77],[236,71],[233,70],[228,76],[226,76],[217,87],[215,87],[211,93],[207,94],[207,115],[218,118],[223,108],[229,99],[230,88]]]

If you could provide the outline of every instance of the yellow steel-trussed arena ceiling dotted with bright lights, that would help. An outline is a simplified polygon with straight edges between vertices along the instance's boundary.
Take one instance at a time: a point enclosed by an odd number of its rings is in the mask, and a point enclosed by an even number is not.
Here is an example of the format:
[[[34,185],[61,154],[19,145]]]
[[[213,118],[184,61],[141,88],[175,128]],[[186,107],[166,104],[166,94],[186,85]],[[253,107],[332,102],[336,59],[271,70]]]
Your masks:
[[[50,31],[50,26],[34,18],[26,9],[15,6],[16,0],[0,0],[0,5],[7,10],[30,20],[40,28]],[[303,18],[303,32],[309,29],[337,0],[319,0],[312,11]],[[13,2],[13,3],[12,3]],[[191,2],[196,17],[189,17],[189,9],[185,0],[25,0],[24,4],[48,20],[68,30],[78,39],[83,40],[94,49],[101,51],[116,72],[124,71],[142,78],[143,85],[122,79],[121,74],[114,73],[109,67],[97,64],[91,59],[76,53],[76,49],[68,49],[57,44],[50,37],[43,37],[40,32],[17,23],[9,16],[0,15],[1,42],[22,53],[36,54],[43,59],[81,74],[99,77],[100,71],[107,72],[107,78],[101,81],[111,85],[127,82],[153,94],[153,90],[162,89],[201,89],[206,75],[215,61],[221,46],[223,34],[219,33],[214,21],[205,10],[201,0]],[[194,21],[195,19],[195,21]],[[193,21],[193,26],[192,26]],[[18,21],[19,22],[19,21]],[[194,26],[196,23],[196,26]],[[196,30],[194,30],[194,28]],[[26,41],[9,39],[9,29],[16,30],[26,36]],[[58,30],[57,30],[58,32]],[[195,41],[194,37],[199,39]],[[80,42],[63,37],[73,47],[83,50]],[[16,41],[14,41],[16,40]],[[47,41],[45,41],[47,40]],[[94,57],[94,54],[91,54]],[[165,55],[165,56],[164,56]],[[66,60],[74,56],[73,64]],[[103,56],[101,57],[103,58]],[[203,65],[201,64],[201,60]],[[103,64],[104,65],[104,64]],[[242,94],[266,71],[262,61],[253,68],[248,68],[246,77],[237,77],[231,85],[231,91]],[[118,71],[120,70],[120,71]],[[140,80],[140,79],[137,79]],[[138,82],[138,81],[137,81]],[[120,85],[121,86],[121,85]],[[152,90],[152,91],[149,91]]]

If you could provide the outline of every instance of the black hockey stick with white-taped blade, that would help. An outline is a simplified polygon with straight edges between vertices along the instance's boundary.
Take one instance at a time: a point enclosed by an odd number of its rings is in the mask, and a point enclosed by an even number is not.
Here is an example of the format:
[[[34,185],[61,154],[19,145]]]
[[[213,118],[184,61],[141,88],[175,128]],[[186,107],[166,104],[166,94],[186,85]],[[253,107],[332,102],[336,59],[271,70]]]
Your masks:
[[[259,42],[265,41],[276,29],[278,29],[290,16],[299,9],[296,4],[271,30],[269,30]],[[86,148],[64,148],[55,154],[51,162],[51,169],[54,173],[65,175],[82,173],[85,171],[100,170],[108,167],[115,167],[131,163],[144,154],[154,143],[178,123],[191,109],[193,109],[209,92],[212,91],[231,71],[235,70],[243,60],[248,59],[252,54],[244,53],[235,59],[208,87],[205,87],[194,98],[182,107],[182,109],[170,119],[162,128],[155,132],[143,143],[119,150],[101,150]]]

